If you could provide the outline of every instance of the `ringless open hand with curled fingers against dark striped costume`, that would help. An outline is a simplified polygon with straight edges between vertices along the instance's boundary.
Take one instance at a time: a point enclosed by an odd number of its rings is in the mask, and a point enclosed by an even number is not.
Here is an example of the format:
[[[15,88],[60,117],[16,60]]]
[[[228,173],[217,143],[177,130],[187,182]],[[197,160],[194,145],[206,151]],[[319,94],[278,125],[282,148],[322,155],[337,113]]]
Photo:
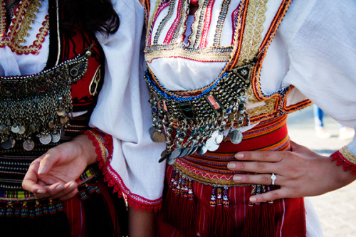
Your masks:
[[[35,159],[23,179],[23,189],[38,198],[70,199],[78,191],[75,180],[94,162],[95,147],[86,135],[80,135]]]

